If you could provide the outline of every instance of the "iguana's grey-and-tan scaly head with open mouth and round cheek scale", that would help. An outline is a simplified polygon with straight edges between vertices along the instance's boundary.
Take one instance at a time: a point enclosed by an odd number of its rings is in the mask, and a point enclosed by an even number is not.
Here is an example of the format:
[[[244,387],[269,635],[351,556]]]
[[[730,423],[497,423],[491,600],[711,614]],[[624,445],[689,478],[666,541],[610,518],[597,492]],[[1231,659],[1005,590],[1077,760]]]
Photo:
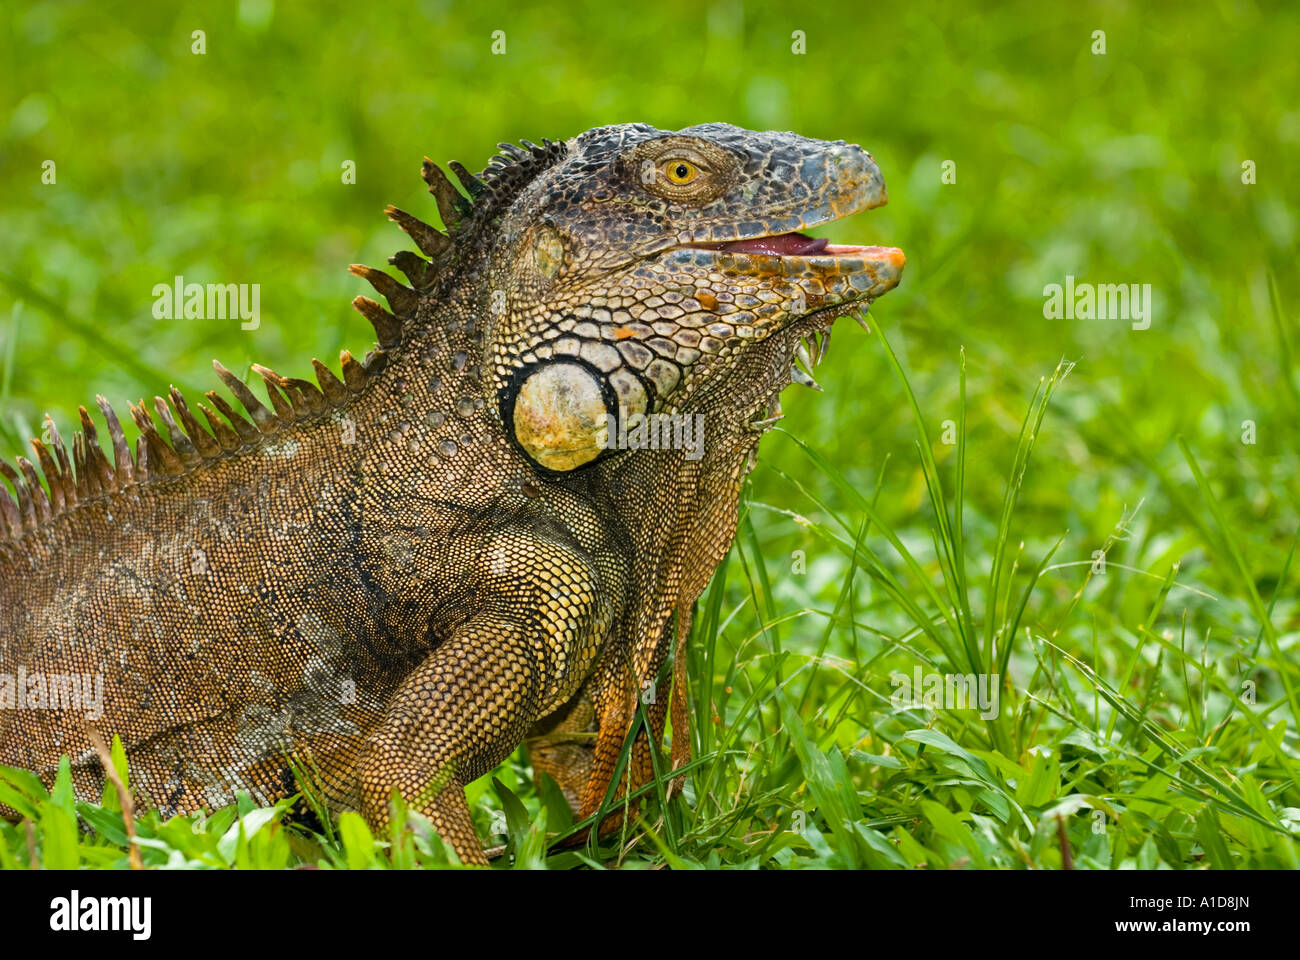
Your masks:
[[[611,415],[763,420],[792,377],[811,384],[796,362],[820,359],[835,317],[902,272],[900,250],[800,233],[885,203],[842,140],[628,124],[552,150],[486,264],[502,423],[546,470],[618,455]]]

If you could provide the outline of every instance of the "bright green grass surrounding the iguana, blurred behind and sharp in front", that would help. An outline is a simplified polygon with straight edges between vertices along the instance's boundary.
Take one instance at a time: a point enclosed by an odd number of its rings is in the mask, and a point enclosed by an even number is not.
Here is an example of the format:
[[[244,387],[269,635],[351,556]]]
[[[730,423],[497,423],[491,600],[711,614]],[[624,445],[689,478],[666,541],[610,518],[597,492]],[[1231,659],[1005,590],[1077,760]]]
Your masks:
[[[5,454],[95,392],[364,346],[343,268],[402,246],[378,211],[428,209],[426,152],[625,120],[842,137],[890,204],[827,233],[909,255],[763,441],[689,645],[684,795],[650,784],[621,835],[547,852],[575,825],[516,754],[469,791],[499,866],[1300,865],[1295,9],[266,9],[0,16],[29,48],[0,68]],[[263,329],[159,324],[177,273],[261,282]],[[1067,273],[1152,284],[1150,329],[1045,320]],[[896,705],[915,667],[1001,676],[1000,710]],[[0,826],[0,866],[127,864],[114,792],[5,773],[0,800],[30,822]],[[140,857],[450,860],[413,814],[374,838],[286,809],[138,812]]]

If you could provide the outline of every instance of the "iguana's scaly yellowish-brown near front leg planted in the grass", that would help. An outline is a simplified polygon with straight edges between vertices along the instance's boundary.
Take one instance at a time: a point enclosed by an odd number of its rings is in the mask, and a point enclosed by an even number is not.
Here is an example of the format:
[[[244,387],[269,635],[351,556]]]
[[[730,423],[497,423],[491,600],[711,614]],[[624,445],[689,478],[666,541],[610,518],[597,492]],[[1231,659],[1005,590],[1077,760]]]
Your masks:
[[[464,786],[573,695],[611,619],[608,593],[575,546],[506,532],[481,561],[478,611],[406,678],[367,739],[359,770],[372,826],[386,825],[395,788],[472,864],[488,860]]]

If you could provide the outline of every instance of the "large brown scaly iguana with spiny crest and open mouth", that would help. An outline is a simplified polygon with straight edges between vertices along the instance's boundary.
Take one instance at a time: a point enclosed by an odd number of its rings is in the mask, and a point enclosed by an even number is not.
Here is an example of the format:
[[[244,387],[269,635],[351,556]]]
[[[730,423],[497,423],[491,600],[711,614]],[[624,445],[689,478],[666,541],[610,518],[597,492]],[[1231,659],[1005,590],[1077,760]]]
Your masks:
[[[671,648],[616,790],[670,701],[689,757],[682,644],[759,437],[904,267],[798,232],[884,182],[727,124],[521,143],[448,164],[460,189],[425,159],[443,230],[386,209],[424,256],[390,258],[410,285],[350,268],[391,312],[354,300],[377,346],[341,379],[255,364],[268,406],[214,363],[247,415],[173,388],[130,407],[133,457],[99,398],[107,451],[83,407],[70,451],[32,441],[44,481],[0,462],[0,762],[49,782],[68,754],[98,797],[87,728],[118,734],[172,813],[286,796],[309,760],[332,809],[384,827],[396,790],[482,864],[464,784],[530,738],[592,814]]]

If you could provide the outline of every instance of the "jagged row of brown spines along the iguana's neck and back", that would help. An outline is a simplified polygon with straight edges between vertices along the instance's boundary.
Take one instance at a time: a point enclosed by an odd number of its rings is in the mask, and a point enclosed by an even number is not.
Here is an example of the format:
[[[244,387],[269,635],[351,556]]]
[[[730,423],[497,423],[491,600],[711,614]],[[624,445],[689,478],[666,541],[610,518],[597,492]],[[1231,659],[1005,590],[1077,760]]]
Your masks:
[[[266,386],[270,402],[268,407],[239,377],[213,360],[217,376],[246,412],[235,410],[221,394],[208,392],[211,406],[195,403],[203,415],[200,421],[182,393],[172,386],[166,398],[153,398],[153,414],[162,429],[159,429],[143,399],[130,405],[131,420],[140,431],[134,458],[122,424],[104,397],[96,397],[95,402],[108,427],[112,460],[100,445],[99,431],[86,407],[79,408],[81,431],[73,436],[70,455],[53,420],[47,415],[49,445],[40,440],[31,441],[39,471],[25,457],[16,459],[17,468],[0,460],[0,476],[13,488],[10,494],[0,484],[0,550],[8,549],[43,524],[72,513],[78,503],[124,493],[159,477],[202,470],[224,457],[248,453],[265,437],[322,416],[363,393],[387,366],[393,351],[400,347],[403,327],[415,321],[421,298],[430,295],[439,280],[451,278],[458,252],[481,243],[484,233],[493,228],[519,193],[568,152],[564,143],[547,139],[541,146],[528,140],[521,143],[521,147],[499,144],[503,153],[493,157],[480,176],[469,173],[455,161],[450,163],[448,168],[464,193],[452,185],[439,167],[428,157],[424,159],[421,177],[438,204],[446,232],[396,207],[389,206],[385,209],[389,219],[429,259],[410,250],[389,258],[389,263],[406,274],[411,286],[373,267],[352,264],[348,268],[387,300],[391,312],[368,297],[352,300],[352,306],[374,327],[377,345],[360,362],[343,350],[339,354],[342,379],[315,358],[312,368],[316,382],[285,377],[268,367],[254,364],[254,372]]]

